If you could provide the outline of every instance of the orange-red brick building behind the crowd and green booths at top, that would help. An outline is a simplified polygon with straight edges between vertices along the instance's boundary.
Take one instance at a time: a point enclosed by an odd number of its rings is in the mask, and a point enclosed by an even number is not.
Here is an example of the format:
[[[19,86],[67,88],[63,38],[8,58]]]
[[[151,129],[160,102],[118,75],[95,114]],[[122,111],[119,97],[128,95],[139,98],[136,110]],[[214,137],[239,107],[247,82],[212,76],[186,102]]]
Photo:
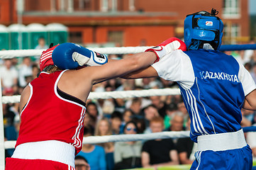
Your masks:
[[[69,41],[81,44],[155,45],[166,38],[183,36],[187,14],[216,8],[225,23],[224,42],[250,38],[247,0],[1,0],[0,23],[62,23]],[[22,8],[21,8],[22,9]]]

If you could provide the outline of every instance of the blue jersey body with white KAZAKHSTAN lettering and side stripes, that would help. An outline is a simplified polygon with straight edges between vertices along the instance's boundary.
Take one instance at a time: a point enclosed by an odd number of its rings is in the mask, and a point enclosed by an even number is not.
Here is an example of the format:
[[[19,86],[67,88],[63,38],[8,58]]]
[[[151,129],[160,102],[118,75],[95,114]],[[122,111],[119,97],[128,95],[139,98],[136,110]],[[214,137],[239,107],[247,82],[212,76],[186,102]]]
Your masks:
[[[194,85],[179,86],[191,118],[191,140],[240,130],[241,108],[245,99],[238,79],[239,64],[234,57],[215,50],[190,50],[186,53],[194,69]]]

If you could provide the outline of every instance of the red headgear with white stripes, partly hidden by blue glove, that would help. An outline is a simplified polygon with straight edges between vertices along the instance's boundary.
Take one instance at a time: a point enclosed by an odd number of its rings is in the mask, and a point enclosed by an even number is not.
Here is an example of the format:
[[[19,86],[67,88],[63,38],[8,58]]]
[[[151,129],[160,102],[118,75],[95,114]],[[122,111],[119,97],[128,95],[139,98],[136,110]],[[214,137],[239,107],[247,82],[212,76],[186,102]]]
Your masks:
[[[40,57],[40,70],[41,72],[43,69],[49,65],[53,65],[52,61],[52,52],[58,45],[55,45],[54,47],[50,47],[48,50],[45,50],[42,52],[42,55]]]

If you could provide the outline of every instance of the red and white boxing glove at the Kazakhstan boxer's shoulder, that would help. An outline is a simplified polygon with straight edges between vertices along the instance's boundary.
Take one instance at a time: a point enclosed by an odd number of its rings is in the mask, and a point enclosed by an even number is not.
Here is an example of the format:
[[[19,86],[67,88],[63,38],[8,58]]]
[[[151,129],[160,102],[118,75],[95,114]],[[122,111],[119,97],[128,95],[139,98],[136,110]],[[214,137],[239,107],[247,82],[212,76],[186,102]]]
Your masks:
[[[155,55],[157,55],[157,60],[155,60],[155,62],[158,62],[162,57],[174,50],[186,51],[186,44],[182,40],[179,40],[179,38],[169,38],[160,45],[145,50],[145,52],[155,52]]]

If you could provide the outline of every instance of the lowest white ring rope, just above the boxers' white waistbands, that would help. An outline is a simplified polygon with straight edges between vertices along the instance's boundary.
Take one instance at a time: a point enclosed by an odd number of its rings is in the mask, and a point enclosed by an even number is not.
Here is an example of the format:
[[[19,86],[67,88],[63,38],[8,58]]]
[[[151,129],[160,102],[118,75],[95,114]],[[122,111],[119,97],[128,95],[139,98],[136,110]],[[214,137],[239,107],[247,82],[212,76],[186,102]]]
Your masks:
[[[189,137],[189,131],[177,132],[155,132],[148,134],[135,134],[135,135],[106,135],[106,136],[89,136],[84,137],[83,144],[96,144],[105,142],[126,142],[137,140],[155,140],[166,138]],[[16,145],[16,141],[4,142],[5,149],[12,149]]]

